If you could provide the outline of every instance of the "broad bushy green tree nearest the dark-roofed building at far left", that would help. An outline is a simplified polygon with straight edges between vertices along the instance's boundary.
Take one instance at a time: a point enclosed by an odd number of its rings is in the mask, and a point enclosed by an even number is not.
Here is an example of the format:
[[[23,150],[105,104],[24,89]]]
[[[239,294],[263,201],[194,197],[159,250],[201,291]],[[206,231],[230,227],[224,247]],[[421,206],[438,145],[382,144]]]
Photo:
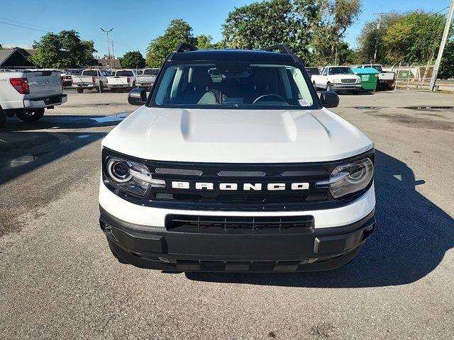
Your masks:
[[[81,40],[75,30],[62,30],[58,35],[52,32],[34,42],[35,55],[29,58],[37,67],[69,68],[94,65],[94,42]]]

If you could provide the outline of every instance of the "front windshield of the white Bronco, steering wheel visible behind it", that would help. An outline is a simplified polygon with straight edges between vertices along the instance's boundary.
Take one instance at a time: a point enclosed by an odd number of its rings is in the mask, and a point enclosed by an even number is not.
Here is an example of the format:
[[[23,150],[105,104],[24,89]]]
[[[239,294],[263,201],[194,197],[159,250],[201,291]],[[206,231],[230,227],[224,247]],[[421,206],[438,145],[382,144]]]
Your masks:
[[[219,61],[170,64],[160,76],[153,106],[177,108],[301,108],[314,105],[298,67]]]

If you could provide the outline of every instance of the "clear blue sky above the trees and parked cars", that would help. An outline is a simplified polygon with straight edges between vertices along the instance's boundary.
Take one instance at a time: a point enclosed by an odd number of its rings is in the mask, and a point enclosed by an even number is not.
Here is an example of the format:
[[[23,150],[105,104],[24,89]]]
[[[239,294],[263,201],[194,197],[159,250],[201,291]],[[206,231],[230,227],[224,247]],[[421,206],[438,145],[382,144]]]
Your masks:
[[[4,47],[31,47],[48,31],[74,29],[81,38],[94,40],[96,55],[107,52],[106,35],[110,29],[114,54],[145,50],[151,40],[164,33],[174,18],[182,18],[193,28],[193,34],[211,35],[221,40],[222,24],[229,11],[252,0],[0,0],[0,44]],[[389,11],[441,11],[450,0],[362,0],[358,21],[348,28],[345,40],[357,46],[357,37],[374,13]],[[444,11],[444,13],[447,10]]]

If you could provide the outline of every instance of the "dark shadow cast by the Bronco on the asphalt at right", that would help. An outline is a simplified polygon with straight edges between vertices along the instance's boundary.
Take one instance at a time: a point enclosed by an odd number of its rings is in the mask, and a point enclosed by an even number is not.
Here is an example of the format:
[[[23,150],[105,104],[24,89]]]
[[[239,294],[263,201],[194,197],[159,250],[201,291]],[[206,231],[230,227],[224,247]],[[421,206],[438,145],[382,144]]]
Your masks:
[[[358,288],[412,283],[454,246],[454,220],[416,191],[424,183],[404,162],[376,150],[377,229],[358,257],[314,273],[187,273],[191,280],[289,287]]]

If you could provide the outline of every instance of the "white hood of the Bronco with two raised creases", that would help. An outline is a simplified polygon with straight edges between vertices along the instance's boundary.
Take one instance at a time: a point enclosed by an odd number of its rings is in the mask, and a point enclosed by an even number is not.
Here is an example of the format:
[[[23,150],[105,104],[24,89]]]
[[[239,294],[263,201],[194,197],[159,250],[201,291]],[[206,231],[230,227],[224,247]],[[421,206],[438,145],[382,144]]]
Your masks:
[[[352,157],[373,147],[331,111],[175,109],[142,106],[102,145],[174,162],[293,163]]]

